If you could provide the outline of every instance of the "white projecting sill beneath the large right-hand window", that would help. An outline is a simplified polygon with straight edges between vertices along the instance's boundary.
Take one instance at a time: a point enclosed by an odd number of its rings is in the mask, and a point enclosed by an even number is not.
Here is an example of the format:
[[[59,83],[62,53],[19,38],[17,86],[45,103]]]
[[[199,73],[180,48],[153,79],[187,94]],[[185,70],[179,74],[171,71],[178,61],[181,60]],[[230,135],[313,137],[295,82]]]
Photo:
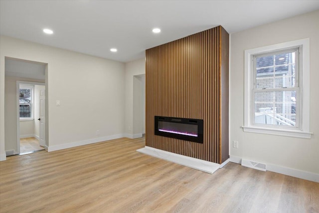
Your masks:
[[[307,138],[310,139],[311,135],[314,134],[312,132],[303,132],[296,130],[283,130],[283,129],[269,129],[269,128],[261,128],[261,127],[242,127],[244,132],[253,132],[253,133],[261,133],[268,135],[280,135],[280,136],[288,136],[295,138]]]

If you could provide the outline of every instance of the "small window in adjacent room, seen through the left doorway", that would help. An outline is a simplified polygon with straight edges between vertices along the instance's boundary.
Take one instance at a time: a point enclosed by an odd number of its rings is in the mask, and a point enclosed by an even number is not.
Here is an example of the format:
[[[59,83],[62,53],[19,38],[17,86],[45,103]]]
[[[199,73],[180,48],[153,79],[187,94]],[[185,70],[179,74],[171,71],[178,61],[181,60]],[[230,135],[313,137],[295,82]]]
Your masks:
[[[33,120],[33,86],[20,84],[19,88],[20,120]]]

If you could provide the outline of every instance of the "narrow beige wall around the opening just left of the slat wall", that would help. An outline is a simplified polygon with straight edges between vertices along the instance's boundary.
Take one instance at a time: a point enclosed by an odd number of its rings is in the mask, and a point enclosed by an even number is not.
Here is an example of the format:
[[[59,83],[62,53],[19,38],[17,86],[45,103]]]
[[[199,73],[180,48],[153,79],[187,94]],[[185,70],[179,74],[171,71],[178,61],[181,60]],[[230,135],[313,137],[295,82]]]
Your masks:
[[[134,107],[133,107],[134,106],[134,79],[136,80],[136,83],[141,81],[141,79],[137,79],[134,76],[143,75],[143,74],[145,74],[145,58],[128,62],[125,64],[125,133],[127,137],[130,137],[130,138],[134,138],[134,135],[142,134],[142,131],[143,131],[143,127],[142,128],[134,127],[134,120],[136,124],[141,124],[141,122],[143,122],[142,121],[143,116],[141,118],[141,121],[137,121],[136,119],[134,119]],[[138,85],[139,84],[135,84],[136,86],[135,89],[138,89],[139,87]],[[141,98],[141,97],[138,97],[138,98]],[[141,106],[142,105],[143,103],[141,103]],[[135,116],[136,117],[141,116],[142,115],[141,113]]]

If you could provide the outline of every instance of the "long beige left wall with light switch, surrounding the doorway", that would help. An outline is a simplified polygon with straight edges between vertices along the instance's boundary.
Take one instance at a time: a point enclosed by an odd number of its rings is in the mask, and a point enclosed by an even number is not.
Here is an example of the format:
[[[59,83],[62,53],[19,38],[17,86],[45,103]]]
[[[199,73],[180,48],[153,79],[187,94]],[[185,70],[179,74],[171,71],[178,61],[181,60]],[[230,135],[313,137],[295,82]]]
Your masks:
[[[48,64],[49,147],[68,147],[124,133],[124,63],[0,37],[0,154],[4,148],[4,57]],[[56,106],[56,100],[61,105]],[[100,135],[96,135],[96,130]]]

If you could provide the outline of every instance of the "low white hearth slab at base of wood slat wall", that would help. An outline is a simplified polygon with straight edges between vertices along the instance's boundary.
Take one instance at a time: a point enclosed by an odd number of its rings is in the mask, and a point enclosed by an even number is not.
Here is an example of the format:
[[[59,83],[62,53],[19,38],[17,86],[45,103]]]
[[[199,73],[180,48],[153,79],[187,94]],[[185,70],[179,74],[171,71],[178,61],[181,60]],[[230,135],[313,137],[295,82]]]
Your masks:
[[[151,155],[156,158],[160,158],[166,161],[170,161],[176,164],[180,164],[192,169],[200,170],[209,174],[213,174],[220,168],[220,164],[212,163],[209,161],[200,160],[197,158],[191,158],[163,150],[155,149],[153,147],[145,146],[142,149],[137,150],[140,153]]]

